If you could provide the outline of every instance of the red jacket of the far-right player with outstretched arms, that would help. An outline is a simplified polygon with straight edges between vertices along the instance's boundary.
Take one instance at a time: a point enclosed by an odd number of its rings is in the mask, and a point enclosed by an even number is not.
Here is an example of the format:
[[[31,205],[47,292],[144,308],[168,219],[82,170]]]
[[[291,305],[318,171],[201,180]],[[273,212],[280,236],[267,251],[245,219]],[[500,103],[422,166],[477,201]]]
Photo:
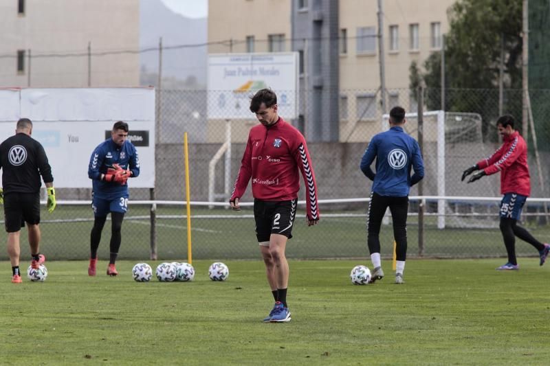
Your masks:
[[[485,174],[500,172],[500,194],[531,194],[531,179],[527,165],[527,144],[515,131],[504,137],[503,145],[493,155],[477,163]]]

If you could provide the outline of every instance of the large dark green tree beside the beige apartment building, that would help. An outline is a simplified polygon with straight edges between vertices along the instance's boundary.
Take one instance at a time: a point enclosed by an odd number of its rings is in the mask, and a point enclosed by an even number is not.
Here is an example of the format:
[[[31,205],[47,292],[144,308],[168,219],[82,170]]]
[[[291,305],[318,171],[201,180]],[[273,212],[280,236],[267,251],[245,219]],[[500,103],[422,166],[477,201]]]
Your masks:
[[[484,121],[495,119],[501,40],[504,40],[505,89],[521,88],[522,1],[457,0],[449,8],[448,17],[445,109],[480,113]],[[428,109],[439,109],[440,93],[430,89],[441,88],[441,53],[432,53],[423,67],[426,72],[422,77],[428,88],[426,104]],[[505,112],[517,115],[517,105],[507,104]]]

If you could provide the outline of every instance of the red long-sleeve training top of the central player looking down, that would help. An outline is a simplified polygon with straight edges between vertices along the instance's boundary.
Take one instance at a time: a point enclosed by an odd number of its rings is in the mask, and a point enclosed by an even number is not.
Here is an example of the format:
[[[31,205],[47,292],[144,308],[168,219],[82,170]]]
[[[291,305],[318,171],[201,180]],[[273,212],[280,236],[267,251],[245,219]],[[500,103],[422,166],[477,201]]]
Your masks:
[[[243,196],[251,178],[254,198],[263,201],[298,198],[298,171],[302,172],[307,190],[307,217],[309,220],[318,220],[317,183],[303,135],[281,117],[272,126],[254,126],[248,134],[241,169],[230,201]]]

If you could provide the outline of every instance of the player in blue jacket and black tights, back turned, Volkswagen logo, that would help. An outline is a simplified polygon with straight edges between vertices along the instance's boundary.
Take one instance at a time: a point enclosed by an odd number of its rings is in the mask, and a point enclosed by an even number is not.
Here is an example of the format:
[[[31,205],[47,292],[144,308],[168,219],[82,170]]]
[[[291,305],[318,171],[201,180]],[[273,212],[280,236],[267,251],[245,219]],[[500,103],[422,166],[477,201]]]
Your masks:
[[[384,277],[380,260],[380,225],[386,209],[393,218],[397,266],[395,283],[403,284],[407,255],[407,211],[410,187],[424,176],[424,163],[418,142],[403,130],[405,110],[400,106],[390,111],[390,129],[373,137],[361,159],[362,172],[373,181],[367,218],[368,245],[373,262],[371,282]],[[371,164],[376,159],[376,173]],[[410,176],[411,168],[415,173]]]

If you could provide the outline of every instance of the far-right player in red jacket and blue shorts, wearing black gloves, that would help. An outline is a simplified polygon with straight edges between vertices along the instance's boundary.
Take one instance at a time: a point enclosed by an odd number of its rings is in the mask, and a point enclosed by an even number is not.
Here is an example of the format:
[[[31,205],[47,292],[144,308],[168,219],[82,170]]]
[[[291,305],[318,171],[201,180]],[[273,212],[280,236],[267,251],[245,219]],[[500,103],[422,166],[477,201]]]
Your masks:
[[[467,183],[481,179],[485,175],[500,172],[500,232],[503,234],[508,262],[496,268],[498,271],[516,271],[520,267],[516,259],[516,236],[531,244],[538,251],[542,266],[550,252],[550,245],[533,238],[531,233],[518,225],[521,210],[529,194],[531,179],[527,165],[527,144],[518,131],[514,130],[514,117],[503,115],[496,121],[498,133],[503,137],[503,145],[487,159],[478,161],[462,173],[462,181],[470,176]]]

